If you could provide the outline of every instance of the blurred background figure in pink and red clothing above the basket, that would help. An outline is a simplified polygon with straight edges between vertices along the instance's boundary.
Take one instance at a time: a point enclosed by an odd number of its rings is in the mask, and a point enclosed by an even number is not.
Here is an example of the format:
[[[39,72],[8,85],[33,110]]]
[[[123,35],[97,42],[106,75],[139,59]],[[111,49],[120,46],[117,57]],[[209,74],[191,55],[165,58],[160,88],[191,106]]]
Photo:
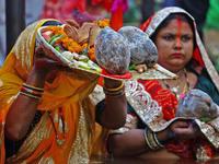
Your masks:
[[[57,19],[62,23],[74,20],[79,25],[108,17],[111,27],[123,26],[123,13],[128,11],[127,0],[45,0],[39,19]]]

